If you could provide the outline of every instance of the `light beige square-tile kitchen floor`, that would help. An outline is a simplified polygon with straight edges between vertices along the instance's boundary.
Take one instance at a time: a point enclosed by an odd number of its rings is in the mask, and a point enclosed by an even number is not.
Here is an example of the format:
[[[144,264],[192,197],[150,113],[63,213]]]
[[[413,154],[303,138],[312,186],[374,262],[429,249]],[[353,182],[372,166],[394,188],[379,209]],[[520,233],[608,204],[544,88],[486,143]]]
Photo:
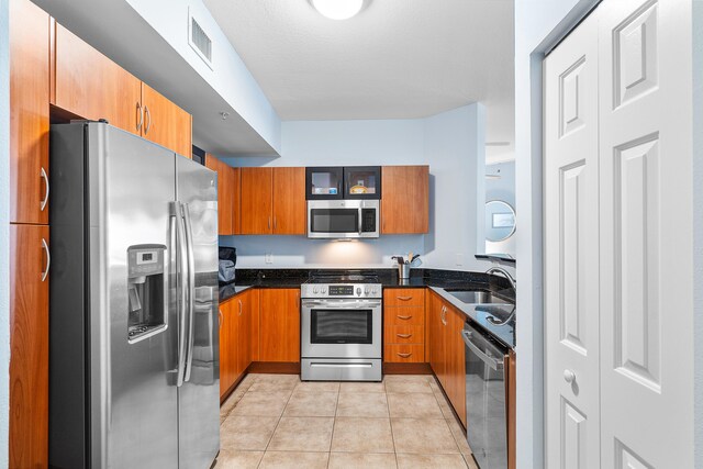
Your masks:
[[[248,375],[220,423],[216,469],[476,468],[432,376],[338,383]]]

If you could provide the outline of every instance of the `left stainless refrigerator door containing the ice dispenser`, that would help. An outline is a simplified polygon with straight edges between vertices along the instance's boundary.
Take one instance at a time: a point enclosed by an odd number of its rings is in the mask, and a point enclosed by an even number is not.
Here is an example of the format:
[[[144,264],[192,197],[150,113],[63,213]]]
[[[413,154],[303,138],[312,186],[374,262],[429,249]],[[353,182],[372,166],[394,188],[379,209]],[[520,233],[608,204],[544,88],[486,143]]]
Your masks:
[[[175,156],[107,124],[86,129],[92,467],[175,468]]]

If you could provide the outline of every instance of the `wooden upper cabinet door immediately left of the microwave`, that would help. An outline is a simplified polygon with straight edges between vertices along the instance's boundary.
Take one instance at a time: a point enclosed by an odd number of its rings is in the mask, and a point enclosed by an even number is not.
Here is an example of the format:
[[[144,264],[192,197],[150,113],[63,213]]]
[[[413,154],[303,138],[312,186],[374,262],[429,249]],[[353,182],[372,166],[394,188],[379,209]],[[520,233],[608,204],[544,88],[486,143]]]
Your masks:
[[[274,168],[274,234],[304,235],[305,168]]]

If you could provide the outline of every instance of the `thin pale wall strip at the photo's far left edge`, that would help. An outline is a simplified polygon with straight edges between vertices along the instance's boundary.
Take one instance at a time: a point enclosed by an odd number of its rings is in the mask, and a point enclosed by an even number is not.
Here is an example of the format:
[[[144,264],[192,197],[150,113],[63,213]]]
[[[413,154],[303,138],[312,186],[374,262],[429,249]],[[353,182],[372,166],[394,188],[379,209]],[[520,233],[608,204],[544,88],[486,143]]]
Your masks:
[[[10,367],[10,64],[8,0],[0,0],[0,467],[8,467]]]

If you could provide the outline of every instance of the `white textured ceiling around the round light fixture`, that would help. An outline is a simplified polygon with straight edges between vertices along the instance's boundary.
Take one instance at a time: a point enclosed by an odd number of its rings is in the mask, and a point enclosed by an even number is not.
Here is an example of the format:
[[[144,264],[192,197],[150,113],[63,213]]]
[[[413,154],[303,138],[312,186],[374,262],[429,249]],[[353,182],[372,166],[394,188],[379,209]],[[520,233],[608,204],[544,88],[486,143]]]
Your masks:
[[[327,20],[309,0],[204,0],[283,120],[425,118],[487,108],[514,142],[513,0],[372,0]],[[501,158],[500,155],[503,155]]]

